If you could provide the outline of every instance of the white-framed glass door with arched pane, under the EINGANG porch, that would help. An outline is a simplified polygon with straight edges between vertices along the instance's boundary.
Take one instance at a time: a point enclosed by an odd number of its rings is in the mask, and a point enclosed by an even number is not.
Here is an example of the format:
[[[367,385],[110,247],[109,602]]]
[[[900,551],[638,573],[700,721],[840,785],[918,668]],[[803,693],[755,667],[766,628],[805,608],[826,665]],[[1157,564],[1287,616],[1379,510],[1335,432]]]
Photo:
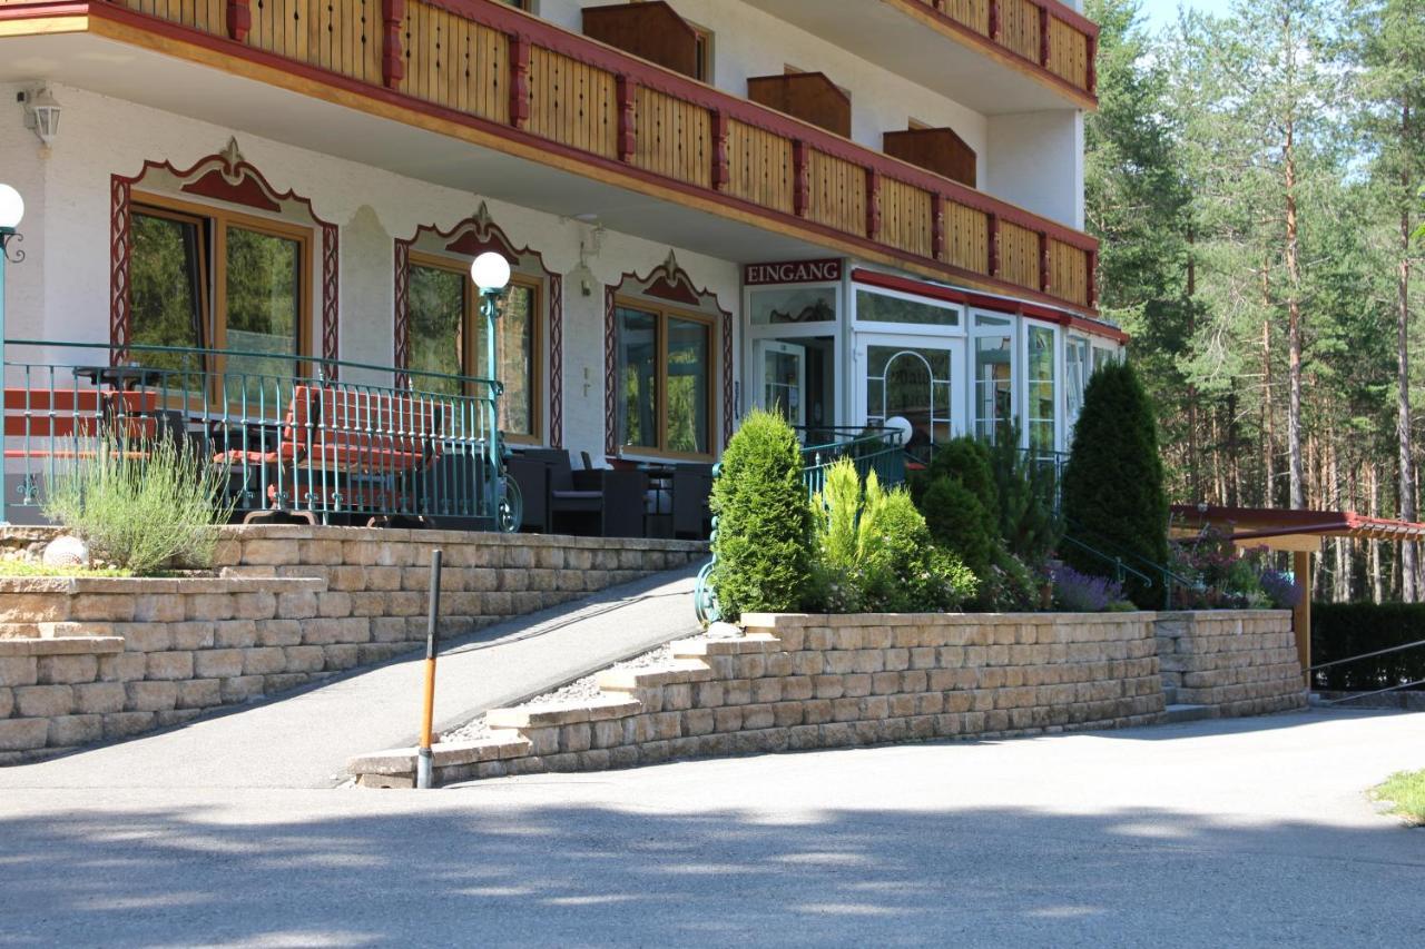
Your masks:
[[[959,368],[965,342],[922,338],[861,336],[861,409],[866,425],[902,418],[911,423],[908,447],[945,442],[965,430]]]

